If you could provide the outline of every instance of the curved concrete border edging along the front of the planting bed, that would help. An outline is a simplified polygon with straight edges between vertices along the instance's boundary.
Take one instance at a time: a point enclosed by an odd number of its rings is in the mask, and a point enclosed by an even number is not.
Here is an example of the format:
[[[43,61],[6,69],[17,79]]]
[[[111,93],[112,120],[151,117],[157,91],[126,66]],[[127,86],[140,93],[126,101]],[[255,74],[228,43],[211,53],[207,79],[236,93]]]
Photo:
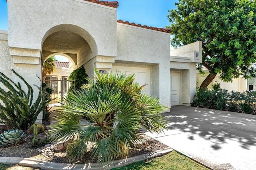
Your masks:
[[[162,156],[164,154],[168,154],[172,152],[173,149],[170,147],[156,150],[154,152],[150,152],[147,154],[141,154],[138,156],[133,156],[130,158],[115,160],[114,164],[111,164],[108,167],[101,167],[98,163],[86,163],[86,164],[64,164],[64,163],[56,163],[56,162],[48,162],[45,160],[37,160],[33,158],[19,158],[19,157],[2,157],[0,158],[0,163],[13,165],[19,164],[21,166],[32,166],[36,168],[41,168],[43,170],[107,170],[111,168],[119,168],[122,166],[126,166],[138,161],[144,161],[147,159],[155,158]]]

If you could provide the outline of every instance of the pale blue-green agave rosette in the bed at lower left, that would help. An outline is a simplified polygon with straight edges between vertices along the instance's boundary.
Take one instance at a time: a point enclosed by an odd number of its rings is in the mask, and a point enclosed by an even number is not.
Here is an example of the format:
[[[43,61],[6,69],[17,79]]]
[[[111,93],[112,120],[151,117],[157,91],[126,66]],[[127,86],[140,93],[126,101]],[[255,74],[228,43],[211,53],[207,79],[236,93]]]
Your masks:
[[[0,134],[0,146],[7,147],[25,140],[26,134],[22,130],[11,129]]]

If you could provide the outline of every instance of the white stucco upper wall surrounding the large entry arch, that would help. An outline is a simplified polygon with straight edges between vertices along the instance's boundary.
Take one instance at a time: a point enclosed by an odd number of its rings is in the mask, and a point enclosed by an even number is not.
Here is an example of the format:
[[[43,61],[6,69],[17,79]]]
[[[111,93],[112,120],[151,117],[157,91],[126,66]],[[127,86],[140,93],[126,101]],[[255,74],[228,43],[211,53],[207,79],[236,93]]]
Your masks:
[[[95,41],[97,55],[116,56],[116,8],[83,0],[8,0],[9,47],[41,50],[46,32],[61,24],[84,29],[80,36],[90,46]]]

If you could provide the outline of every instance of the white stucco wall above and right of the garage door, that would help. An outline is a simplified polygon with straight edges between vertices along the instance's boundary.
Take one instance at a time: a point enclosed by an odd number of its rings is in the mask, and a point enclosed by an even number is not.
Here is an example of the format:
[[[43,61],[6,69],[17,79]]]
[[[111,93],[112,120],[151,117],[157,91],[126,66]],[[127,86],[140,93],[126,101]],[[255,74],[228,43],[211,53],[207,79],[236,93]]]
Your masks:
[[[151,65],[151,92],[170,107],[170,34],[117,23],[117,63]],[[156,66],[158,64],[158,66]]]

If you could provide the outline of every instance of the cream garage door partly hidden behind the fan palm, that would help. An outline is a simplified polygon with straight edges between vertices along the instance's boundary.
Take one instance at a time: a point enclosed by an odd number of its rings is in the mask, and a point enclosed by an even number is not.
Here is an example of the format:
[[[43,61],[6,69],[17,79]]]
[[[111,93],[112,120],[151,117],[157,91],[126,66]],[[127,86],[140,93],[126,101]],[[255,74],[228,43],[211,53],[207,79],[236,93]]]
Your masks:
[[[115,73],[116,71],[126,75],[135,74],[135,82],[138,82],[140,85],[147,84],[144,92],[150,95],[150,68],[112,66],[112,72]]]

